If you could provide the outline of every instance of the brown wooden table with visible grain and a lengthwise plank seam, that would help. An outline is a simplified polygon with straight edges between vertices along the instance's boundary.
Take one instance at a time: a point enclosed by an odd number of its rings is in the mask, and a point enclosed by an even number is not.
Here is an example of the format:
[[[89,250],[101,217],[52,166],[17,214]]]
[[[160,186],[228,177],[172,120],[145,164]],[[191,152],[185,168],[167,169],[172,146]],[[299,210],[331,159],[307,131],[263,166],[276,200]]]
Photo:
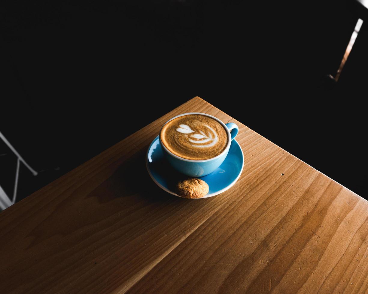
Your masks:
[[[146,172],[184,112],[240,128],[244,170],[219,196],[174,197]],[[195,97],[0,213],[0,292],[364,293],[367,219],[366,200]]]

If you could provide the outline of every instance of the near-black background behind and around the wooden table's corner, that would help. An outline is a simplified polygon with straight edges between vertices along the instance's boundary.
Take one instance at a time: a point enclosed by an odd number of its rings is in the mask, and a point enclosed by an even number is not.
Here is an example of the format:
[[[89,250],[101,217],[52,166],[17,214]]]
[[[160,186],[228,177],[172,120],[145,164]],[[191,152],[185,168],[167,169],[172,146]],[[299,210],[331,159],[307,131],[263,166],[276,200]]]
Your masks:
[[[21,168],[18,199],[194,96],[367,197],[368,19],[325,78],[365,17],[354,1],[0,5],[0,130],[40,171]]]

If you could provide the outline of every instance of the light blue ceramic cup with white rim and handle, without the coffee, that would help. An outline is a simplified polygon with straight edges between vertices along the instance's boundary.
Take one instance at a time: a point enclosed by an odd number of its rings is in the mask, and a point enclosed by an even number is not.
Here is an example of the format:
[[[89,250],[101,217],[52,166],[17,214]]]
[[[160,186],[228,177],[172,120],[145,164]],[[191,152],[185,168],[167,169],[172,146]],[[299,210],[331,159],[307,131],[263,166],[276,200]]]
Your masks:
[[[209,173],[215,171],[215,169],[218,168],[222,164],[222,162],[225,160],[225,158],[227,156],[227,153],[229,153],[231,141],[238,134],[239,128],[235,123],[230,122],[230,123],[224,124],[222,121],[220,121],[215,116],[205,114],[205,113],[200,113],[200,112],[189,112],[189,113],[180,114],[180,115],[174,116],[173,118],[169,119],[166,123],[172,121],[174,118],[177,118],[177,117],[183,116],[183,115],[188,115],[188,114],[201,114],[201,115],[206,115],[206,116],[212,117],[213,119],[216,119],[216,121],[221,123],[227,131],[228,140],[227,140],[227,146],[226,146],[225,150],[222,151],[221,154],[219,154],[219,155],[217,155],[213,158],[203,159],[203,160],[193,160],[193,159],[186,159],[186,158],[179,157],[179,156],[171,153],[164,146],[164,144],[162,144],[162,142],[160,140],[162,150],[164,151],[163,153],[164,153],[166,159],[169,161],[169,163],[173,166],[173,168],[175,168],[177,171],[179,171],[181,173],[184,173],[184,175],[194,177],[194,178],[199,178],[199,177],[202,177],[202,176],[206,176]],[[164,123],[164,125],[166,125],[166,123]],[[161,128],[161,130],[162,130],[162,128]],[[160,130],[160,132],[161,132],[161,130]]]

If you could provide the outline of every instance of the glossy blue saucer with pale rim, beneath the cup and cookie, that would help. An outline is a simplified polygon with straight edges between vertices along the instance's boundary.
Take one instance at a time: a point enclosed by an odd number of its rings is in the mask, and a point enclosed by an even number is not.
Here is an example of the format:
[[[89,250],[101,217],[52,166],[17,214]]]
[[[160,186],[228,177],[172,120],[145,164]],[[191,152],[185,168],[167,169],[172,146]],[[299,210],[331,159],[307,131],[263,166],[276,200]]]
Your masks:
[[[231,141],[230,150],[224,162],[212,173],[201,177],[209,186],[209,192],[202,198],[218,195],[229,189],[239,179],[244,166],[244,156],[238,142]],[[153,182],[166,192],[175,193],[175,185],[189,178],[177,172],[164,158],[159,136],[152,141],[146,155],[146,167]],[[180,197],[180,196],[178,196]]]

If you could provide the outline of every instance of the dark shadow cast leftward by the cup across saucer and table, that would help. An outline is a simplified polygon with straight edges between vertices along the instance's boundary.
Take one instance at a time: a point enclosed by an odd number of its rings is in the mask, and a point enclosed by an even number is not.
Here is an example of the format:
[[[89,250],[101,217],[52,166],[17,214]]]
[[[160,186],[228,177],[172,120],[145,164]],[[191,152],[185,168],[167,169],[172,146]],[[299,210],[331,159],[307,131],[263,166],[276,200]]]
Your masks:
[[[146,204],[167,202],[167,204],[180,204],[180,206],[189,203],[194,205],[192,200],[171,195],[153,182],[146,169],[147,148],[148,146],[125,160],[113,175],[93,190],[88,197],[96,198],[100,204],[111,202],[110,205],[119,207],[123,205],[125,208],[139,206],[141,201],[146,202]],[[161,177],[159,181],[164,183],[164,186],[174,190],[178,180],[188,177],[175,171],[159,152],[159,150],[155,151],[153,149],[153,152],[150,154],[151,158],[153,158],[150,168],[154,170],[157,177]],[[199,204],[204,205],[211,198],[203,199],[200,201],[201,203],[196,202],[196,205],[202,206]],[[114,208],[112,209],[114,210]]]

